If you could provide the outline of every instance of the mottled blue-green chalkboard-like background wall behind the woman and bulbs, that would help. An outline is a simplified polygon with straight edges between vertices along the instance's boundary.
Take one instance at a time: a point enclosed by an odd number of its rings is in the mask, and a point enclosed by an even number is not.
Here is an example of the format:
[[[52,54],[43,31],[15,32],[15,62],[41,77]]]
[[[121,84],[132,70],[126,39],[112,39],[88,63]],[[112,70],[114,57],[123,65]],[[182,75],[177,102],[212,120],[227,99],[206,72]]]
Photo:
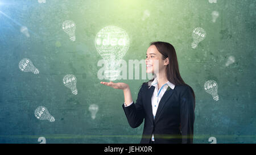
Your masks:
[[[106,26],[127,32],[130,47],[123,60],[142,60],[151,41],[174,45],[181,76],[196,94],[194,143],[256,143],[255,15],[256,1],[1,1],[0,5],[0,143],[139,143],[143,124],[131,128],[122,109],[122,90],[100,84],[101,60],[94,45]],[[144,16],[148,10],[150,16]],[[218,11],[216,22],[212,12]],[[76,23],[76,41],[62,30]],[[26,26],[30,37],[20,32]],[[207,36],[191,48],[192,31]],[[235,61],[225,66],[228,58]],[[19,61],[29,58],[39,74],[24,73]],[[63,85],[74,74],[78,94]],[[219,100],[204,90],[218,83]],[[108,80],[103,80],[108,81]],[[147,79],[121,79],[133,100]],[[90,104],[98,105],[96,119]],[[35,118],[44,106],[55,122]]]

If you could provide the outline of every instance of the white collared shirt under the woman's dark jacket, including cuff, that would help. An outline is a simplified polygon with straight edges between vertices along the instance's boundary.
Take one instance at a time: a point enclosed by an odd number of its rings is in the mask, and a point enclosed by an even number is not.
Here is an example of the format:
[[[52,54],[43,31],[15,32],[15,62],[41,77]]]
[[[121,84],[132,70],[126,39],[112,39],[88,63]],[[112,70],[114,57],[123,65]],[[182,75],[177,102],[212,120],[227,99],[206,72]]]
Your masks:
[[[162,99],[164,93],[166,92],[168,87],[170,87],[173,90],[175,85],[173,83],[171,83],[170,81],[168,81],[168,82],[164,83],[164,85],[162,86],[162,88],[160,88],[160,90],[158,90],[158,81],[157,81],[157,78],[155,78],[154,81],[151,82],[151,86],[155,87],[154,93],[152,94],[152,97],[151,97],[152,115],[154,116],[154,119],[155,119],[155,114],[156,114],[156,111],[158,110],[158,104],[159,104],[160,100]],[[132,103],[133,102],[131,102],[128,106],[130,106]],[[123,103],[123,104],[125,104],[125,103]],[[125,105],[125,107],[128,107],[128,106]],[[152,134],[151,140],[155,141],[154,134]]]

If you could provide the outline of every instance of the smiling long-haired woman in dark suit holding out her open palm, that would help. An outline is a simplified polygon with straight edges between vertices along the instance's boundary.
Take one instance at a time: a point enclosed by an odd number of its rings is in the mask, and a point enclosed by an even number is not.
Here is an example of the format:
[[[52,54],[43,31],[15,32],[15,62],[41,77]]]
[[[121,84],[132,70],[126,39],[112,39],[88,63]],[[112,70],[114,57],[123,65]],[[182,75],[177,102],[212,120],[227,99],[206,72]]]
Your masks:
[[[123,90],[122,107],[132,128],[144,120],[141,143],[193,143],[195,93],[180,76],[174,47],[161,41],[151,43],[146,65],[146,72],[154,78],[142,84],[136,103],[126,83],[101,83]]]

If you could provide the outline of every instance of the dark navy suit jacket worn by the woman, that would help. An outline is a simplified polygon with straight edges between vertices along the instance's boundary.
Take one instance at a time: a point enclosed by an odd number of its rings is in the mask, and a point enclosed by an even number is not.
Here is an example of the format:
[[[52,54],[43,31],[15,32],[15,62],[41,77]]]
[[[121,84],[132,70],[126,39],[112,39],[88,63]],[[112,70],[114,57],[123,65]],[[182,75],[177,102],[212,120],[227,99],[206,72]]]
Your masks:
[[[155,87],[148,87],[146,82],[142,84],[136,103],[128,107],[122,104],[132,128],[139,127],[144,120],[141,143],[150,143],[152,133],[155,143],[193,143],[195,100],[191,88],[175,86],[174,90],[167,89],[154,119],[151,97]]]

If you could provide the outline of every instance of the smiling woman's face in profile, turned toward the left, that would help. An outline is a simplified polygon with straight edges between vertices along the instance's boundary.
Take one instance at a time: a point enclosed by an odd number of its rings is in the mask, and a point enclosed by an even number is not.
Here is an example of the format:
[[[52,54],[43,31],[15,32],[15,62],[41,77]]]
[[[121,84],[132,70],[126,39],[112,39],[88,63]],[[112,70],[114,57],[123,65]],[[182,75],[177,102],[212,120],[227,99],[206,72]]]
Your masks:
[[[158,51],[155,45],[148,47],[146,53],[146,72],[154,74],[162,72],[165,68],[164,65],[168,64],[162,59],[162,57],[163,55]]]

